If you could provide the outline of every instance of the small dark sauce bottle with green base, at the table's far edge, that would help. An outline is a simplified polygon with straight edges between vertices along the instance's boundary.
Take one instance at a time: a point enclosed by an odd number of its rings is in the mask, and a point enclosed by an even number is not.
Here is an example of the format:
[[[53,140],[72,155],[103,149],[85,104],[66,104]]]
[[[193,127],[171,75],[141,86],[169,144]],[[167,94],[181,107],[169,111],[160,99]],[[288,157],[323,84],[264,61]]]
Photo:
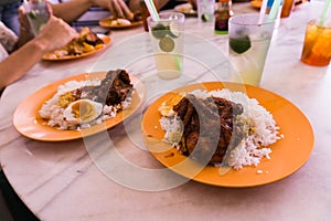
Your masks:
[[[218,0],[215,10],[215,33],[227,34],[228,19],[233,15],[232,0]]]

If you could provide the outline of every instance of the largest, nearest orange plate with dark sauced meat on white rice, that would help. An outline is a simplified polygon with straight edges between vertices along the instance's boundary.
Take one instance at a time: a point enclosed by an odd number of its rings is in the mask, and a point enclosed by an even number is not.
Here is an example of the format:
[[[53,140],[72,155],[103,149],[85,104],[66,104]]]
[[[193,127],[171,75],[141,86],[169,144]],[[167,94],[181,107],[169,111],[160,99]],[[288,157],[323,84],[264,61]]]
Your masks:
[[[180,87],[145,112],[143,140],[166,168],[202,183],[244,188],[284,179],[309,159],[313,131],[286,98],[249,85]]]

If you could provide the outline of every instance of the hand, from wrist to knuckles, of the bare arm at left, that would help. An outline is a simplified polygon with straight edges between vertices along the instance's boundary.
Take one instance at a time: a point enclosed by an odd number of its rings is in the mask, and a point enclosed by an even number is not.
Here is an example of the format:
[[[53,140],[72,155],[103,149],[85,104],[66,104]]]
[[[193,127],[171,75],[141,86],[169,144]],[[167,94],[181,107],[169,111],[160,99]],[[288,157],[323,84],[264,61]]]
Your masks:
[[[78,35],[76,30],[66,22],[52,15],[47,23],[41,28],[36,40],[44,43],[45,52],[50,52],[66,45]]]

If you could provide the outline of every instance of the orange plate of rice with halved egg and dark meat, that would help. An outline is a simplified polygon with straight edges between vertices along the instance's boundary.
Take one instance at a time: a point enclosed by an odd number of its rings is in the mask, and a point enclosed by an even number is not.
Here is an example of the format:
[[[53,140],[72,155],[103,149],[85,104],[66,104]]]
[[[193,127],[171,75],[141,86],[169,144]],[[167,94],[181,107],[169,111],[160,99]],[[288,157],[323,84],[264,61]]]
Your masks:
[[[63,141],[107,130],[142,104],[143,84],[125,70],[83,73],[49,84],[15,109],[13,125],[25,137]]]

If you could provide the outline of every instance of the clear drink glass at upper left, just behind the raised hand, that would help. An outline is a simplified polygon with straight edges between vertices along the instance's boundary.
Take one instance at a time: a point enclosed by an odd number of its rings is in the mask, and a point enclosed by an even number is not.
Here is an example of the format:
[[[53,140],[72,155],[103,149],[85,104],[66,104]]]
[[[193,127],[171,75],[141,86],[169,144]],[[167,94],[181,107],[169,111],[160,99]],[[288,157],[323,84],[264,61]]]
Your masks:
[[[47,23],[50,19],[47,2],[44,0],[30,0],[25,4],[25,10],[32,32],[38,35],[41,27]]]

